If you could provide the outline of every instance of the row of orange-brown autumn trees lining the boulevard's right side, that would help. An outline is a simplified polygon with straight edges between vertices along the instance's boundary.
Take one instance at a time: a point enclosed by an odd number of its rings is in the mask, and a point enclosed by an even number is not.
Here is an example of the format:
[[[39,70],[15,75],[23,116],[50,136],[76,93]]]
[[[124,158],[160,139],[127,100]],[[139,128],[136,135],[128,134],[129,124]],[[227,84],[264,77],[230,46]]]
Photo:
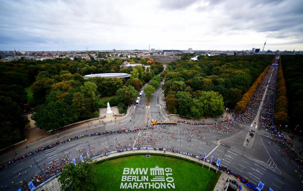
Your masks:
[[[276,86],[276,97],[275,97],[275,115],[274,123],[277,127],[280,125],[286,125],[289,123],[288,118],[288,99],[285,79],[283,76],[281,58],[279,58],[277,86]]]

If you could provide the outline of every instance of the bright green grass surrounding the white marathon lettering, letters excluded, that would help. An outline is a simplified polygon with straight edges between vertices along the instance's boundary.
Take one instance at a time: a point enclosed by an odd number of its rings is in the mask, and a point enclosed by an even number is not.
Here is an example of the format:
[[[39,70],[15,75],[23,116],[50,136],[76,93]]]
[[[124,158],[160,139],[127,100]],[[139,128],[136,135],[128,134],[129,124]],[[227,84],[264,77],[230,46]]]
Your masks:
[[[149,153],[150,154],[150,153]],[[221,175],[220,172],[216,174],[215,170],[208,171],[208,167],[202,165],[198,162],[190,162],[186,159],[179,159],[171,156],[159,156],[157,154],[150,154],[150,158],[146,158],[145,154],[142,155],[132,155],[132,156],[121,156],[114,159],[108,159],[96,165],[96,175],[98,178],[98,190],[131,190],[131,188],[122,188],[120,189],[121,183],[124,185],[127,183],[138,183],[138,189],[140,183],[143,183],[144,189],[142,190],[155,190],[149,189],[148,183],[161,183],[162,185],[165,183],[166,189],[164,187],[160,187],[157,190],[214,190],[215,185]],[[155,176],[151,176],[150,168],[155,168],[155,166],[159,168],[164,168],[164,177],[165,181],[156,182],[151,181],[151,179],[155,178]],[[123,175],[124,168],[148,168],[146,174],[125,174]],[[171,172],[166,172],[166,168],[171,168]],[[169,170],[169,169],[167,169]],[[166,173],[172,173],[172,175],[167,175]],[[148,176],[148,181],[122,181],[122,176],[135,176],[140,180],[142,176]],[[161,176],[161,175],[157,175]],[[171,186],[169,189],[168,181],[172,179],[166,179],[167,177],[173,178],[175,189]],[[132,177],[131,177],[132,178]],[[167,181],[168,180],[168,181]],[[144,184],[144,183],[147,183]],[[145,189],[145,185],[147,186]],[[159,184],[157,184],[159,186]],[[136,189],[136,188],[133,188]]]

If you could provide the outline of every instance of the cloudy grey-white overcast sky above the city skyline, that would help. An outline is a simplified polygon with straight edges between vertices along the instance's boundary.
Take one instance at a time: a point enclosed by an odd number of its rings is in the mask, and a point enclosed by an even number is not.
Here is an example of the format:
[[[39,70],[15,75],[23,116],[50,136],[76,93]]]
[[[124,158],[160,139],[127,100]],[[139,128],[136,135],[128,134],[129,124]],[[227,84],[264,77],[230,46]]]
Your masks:
[[[0,50],[303,50],[302,0],[0,0]]]

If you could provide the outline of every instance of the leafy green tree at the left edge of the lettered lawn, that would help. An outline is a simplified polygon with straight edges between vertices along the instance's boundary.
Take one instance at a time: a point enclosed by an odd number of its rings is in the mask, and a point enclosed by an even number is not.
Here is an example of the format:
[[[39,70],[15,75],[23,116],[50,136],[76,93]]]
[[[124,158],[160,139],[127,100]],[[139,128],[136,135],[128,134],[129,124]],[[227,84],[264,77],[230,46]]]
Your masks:
[[[69,163],[64,166],[58,181],[64,191],[95,190],[95,184],[97,183],[95,172],[95,163],[92,162],[92,159],[86,159],[85,162],[77,162],[77,165]]]

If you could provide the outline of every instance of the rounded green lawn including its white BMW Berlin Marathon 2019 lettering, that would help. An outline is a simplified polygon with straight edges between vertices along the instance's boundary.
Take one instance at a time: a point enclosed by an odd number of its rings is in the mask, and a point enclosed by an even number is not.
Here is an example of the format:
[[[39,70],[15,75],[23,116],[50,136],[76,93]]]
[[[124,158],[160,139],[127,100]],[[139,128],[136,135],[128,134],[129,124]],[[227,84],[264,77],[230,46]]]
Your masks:
[[[178,156],[126,154],[97,163],[96,187],[98,190],[214,190],[221,173],[208,168]]]

